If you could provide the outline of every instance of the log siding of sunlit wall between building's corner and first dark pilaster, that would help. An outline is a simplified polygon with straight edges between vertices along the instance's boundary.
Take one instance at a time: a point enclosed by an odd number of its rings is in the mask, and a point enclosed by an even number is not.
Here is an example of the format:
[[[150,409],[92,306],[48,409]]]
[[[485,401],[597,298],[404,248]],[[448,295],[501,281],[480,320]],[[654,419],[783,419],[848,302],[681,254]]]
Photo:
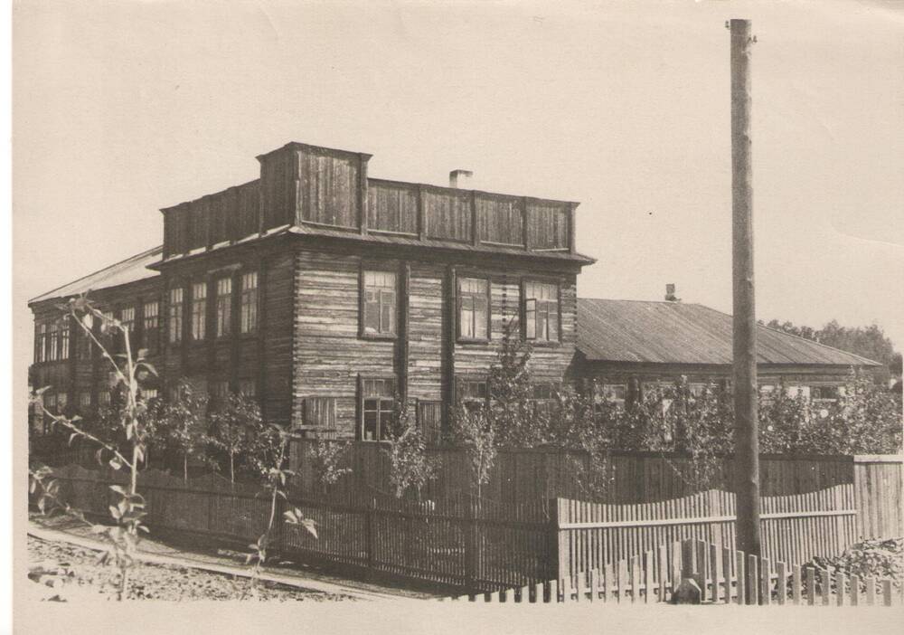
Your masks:
[[[381,265],[398,266],[385,261]],[[395,342],[363,339],[359,329],[361,258],[299,250],[296,256],[293,421],[306,397],[335,397],[340,435],[354,436],[357,378],[394,374]]]

